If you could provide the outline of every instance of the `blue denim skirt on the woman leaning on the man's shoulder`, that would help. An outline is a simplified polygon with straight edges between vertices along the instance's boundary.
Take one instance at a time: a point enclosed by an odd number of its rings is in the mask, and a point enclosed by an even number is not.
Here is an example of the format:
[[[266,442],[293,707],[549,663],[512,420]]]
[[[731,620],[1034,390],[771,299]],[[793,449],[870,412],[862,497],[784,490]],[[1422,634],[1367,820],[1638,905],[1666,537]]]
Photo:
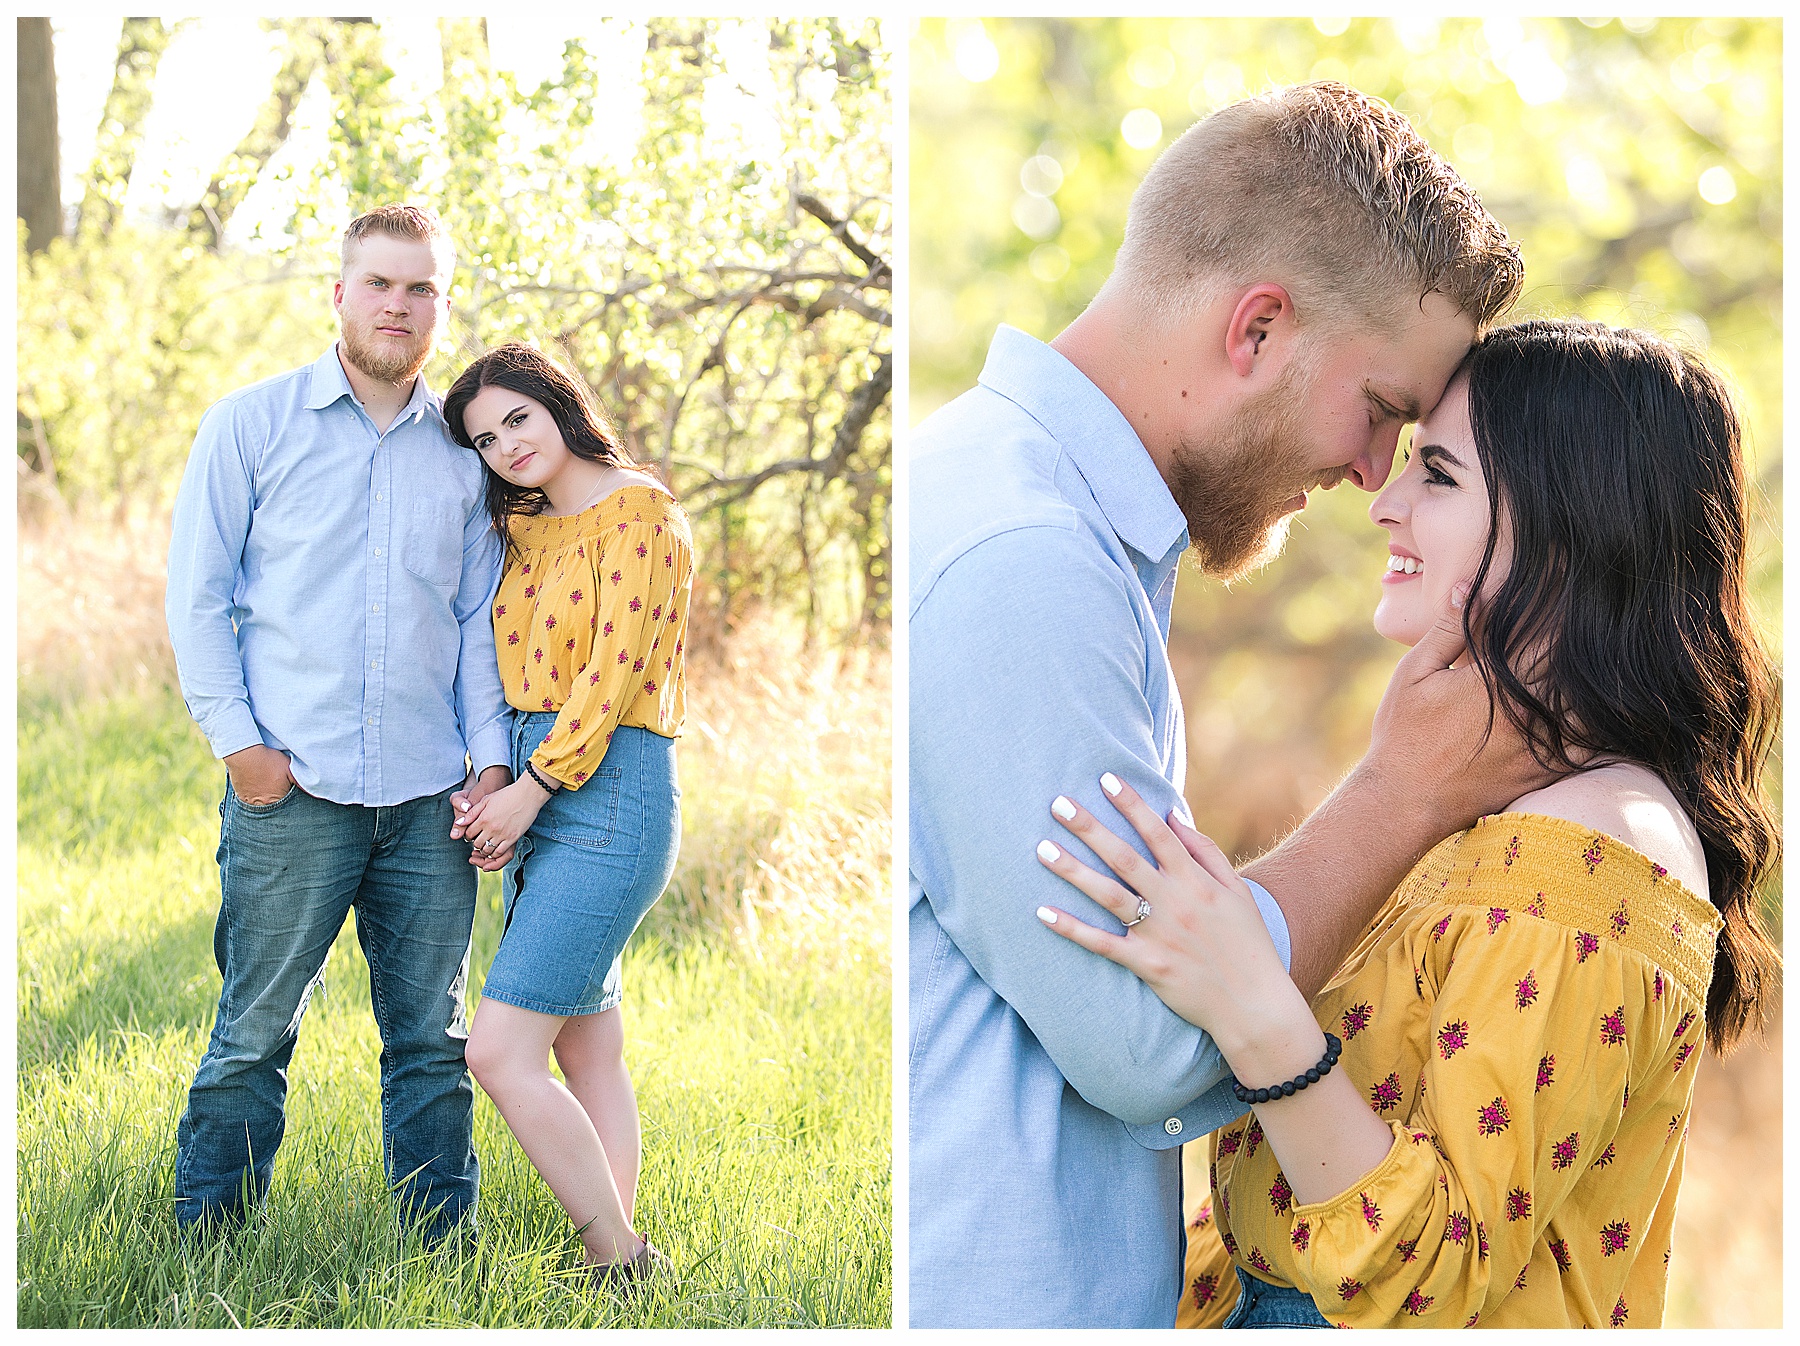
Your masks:
[[[513,714],[515,776],[554,723],[554,711]],[[621,725],[599,768],[551,795],[518,839],[482,997],[569,1018],[617,1006],[625,941],[668,887],[679,846],[675,740]]]

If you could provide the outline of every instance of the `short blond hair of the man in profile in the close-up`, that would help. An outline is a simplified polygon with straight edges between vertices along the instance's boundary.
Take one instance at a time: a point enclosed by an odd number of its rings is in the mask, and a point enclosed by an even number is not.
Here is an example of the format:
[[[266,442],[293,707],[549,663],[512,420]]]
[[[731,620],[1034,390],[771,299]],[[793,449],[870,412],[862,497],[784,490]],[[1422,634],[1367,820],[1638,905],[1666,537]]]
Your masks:
[[[1404,115],[1321,81],[1220,108],[1165,149],[1107,284],[1181,320],[1256,281],[1287,284],[1303,322],[1388,328],[1397,299],[1440,292],[1487,329],[1525,263]]]

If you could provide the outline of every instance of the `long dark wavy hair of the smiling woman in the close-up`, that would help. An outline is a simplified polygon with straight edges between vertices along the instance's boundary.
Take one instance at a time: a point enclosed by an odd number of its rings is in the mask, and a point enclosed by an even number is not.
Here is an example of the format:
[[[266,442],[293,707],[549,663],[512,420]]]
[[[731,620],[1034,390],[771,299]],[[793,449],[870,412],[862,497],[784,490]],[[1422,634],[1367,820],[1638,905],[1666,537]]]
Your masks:
[[[1492,705],[1539,761],[1649,767],[1687,808],[1724,918],[1706,1040],[1760,1020],[1780,970],[1757,885],[1780,857],[1760,772],[1777,671],[1744,596],[1737,414],[1706,365],[1597,322],[1499,328],[1463,362],[1490,524],[1512,565],[1463,614]]]

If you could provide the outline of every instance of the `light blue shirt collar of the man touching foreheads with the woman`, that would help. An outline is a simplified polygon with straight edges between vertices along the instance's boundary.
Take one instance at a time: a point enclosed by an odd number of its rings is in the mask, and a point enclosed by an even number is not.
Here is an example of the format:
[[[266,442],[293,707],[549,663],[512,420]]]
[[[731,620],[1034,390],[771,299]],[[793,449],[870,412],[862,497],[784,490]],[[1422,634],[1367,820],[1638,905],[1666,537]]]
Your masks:
[[[1186,549],[1188,520],[1150,452],[1112,399],[1064,354],[1003,324],[988,345],[981,385],[1049,430],[1127,547],[1152,561]]]

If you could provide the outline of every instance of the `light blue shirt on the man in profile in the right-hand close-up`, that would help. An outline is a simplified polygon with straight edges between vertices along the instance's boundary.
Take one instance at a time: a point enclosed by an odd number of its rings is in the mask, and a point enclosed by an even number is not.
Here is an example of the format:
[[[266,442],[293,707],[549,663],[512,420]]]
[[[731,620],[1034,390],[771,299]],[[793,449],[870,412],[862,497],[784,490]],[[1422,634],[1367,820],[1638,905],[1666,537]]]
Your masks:
[[[1058,794],[1138,844],[1105,770],[1188,817],[1166,653],[1186,520],[1105,394],[1012,328],[913,434],[909,482],[911,1324],[1172,1326],[1177,1146],[1244,1108],[1206,1033],[1039,923],[1121,929],[1033,849],[1103,867]]]

